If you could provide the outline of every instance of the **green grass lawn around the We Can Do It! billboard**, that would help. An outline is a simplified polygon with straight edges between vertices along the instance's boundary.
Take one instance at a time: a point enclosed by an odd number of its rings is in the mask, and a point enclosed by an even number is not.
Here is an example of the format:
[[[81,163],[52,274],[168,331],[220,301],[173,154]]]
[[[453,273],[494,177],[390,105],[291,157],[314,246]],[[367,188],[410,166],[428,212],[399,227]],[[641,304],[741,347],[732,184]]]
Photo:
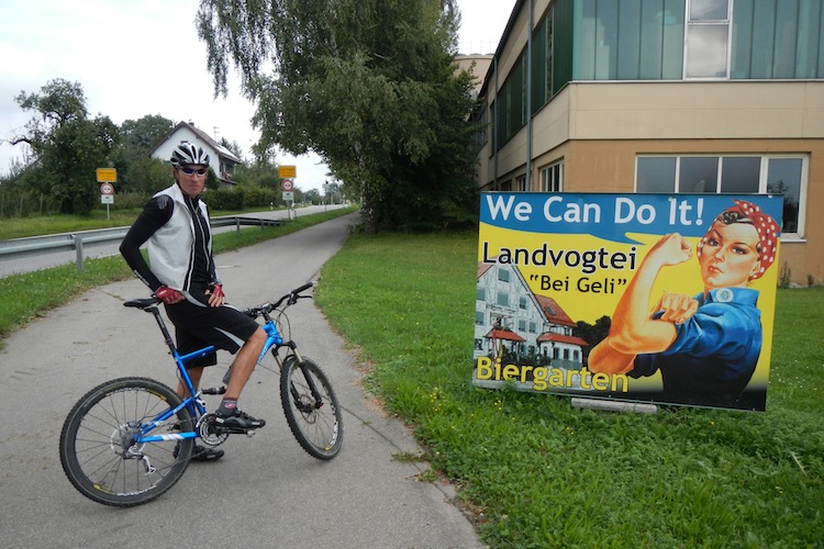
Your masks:
[[[352,237],[318,303],[491,547],[821,547],[824,288],[779,290],[766,413],[471,385],[477,234]],[[434,477],[434,473],[433,473]]]

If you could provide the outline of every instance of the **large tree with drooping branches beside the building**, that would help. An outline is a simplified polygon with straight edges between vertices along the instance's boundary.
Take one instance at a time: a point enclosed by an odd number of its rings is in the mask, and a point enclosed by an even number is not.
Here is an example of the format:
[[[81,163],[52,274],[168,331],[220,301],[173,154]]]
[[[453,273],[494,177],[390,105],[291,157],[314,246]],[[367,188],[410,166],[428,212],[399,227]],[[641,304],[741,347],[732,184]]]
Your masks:
[[[215,93],[234,65],[257,101],[255,154],[316,152],[374,233],[431,223],[472,188],[458,21],[455,0],[202,0],[198,32]]]

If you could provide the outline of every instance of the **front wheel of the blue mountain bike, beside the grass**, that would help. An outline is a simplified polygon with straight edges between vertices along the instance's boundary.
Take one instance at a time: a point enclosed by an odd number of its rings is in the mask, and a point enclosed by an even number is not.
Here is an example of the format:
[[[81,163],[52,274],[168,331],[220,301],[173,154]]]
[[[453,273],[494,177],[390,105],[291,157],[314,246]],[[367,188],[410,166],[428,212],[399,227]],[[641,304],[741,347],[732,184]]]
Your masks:
[[[318,407],[311,384],[321,397]],[[313,458],[330,460],[343,444],[343,415],[337,396],[318,365],[311,360],[285,360],[280,370],[280,403],[298,444]]]

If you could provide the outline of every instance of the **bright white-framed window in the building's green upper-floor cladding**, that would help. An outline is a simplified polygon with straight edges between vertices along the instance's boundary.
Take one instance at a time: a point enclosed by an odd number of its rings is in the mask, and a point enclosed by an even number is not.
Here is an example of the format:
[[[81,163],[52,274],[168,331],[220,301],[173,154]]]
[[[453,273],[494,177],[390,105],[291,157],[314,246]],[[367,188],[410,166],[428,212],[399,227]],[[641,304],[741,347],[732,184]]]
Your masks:
[[[684,78],[728,78],[730,0],[689,0]]]

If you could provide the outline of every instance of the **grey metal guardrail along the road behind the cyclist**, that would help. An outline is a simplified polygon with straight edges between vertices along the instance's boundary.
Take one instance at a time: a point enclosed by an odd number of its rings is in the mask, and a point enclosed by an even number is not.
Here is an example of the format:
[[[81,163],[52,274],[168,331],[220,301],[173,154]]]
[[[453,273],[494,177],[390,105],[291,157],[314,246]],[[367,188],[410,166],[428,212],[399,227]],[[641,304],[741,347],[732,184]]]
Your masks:
[[[241,231],[242,226],[268,227],[281,225],[282,223],[283,220],[227,215],[223,217],[212,217],[210,225],[212,227],[235,226],[237,231]],[[83,248],[86,246],[120,242],[126,236],[127,232],[129,227],[101,228],[0,240],[0,260],[75,250],[77,253],[77,271],[82,272],[85,259]]]

